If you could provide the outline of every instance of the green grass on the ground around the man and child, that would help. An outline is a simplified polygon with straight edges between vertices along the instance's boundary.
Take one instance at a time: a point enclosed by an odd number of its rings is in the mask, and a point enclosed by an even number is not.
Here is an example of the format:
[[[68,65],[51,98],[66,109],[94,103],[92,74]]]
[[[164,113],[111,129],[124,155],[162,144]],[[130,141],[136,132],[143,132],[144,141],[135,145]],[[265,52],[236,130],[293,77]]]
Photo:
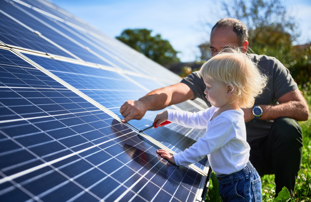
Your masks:
[[[308,86],[300,86],[300,90],[303,92],[306,98],[309,110],[311,109],[311,84]],[[303,157],[301,168],[296,180],[295,190],[293,193],[294,202],[310,202],[311,201],[311,118],[308,121],[299,122],[303,131]],[[273,202],[275,195],[275,183],[274,175],[265,175],[261,178],[263,202]],[[217,180],[214,180],[217,182]],[[215,187],[218,188],[216,183]],[[206,201],[209,202],[221,202],[219,196],[215,196],[216,192],[213,186],[213,178],[211,179],[208,187],[208,193]]]

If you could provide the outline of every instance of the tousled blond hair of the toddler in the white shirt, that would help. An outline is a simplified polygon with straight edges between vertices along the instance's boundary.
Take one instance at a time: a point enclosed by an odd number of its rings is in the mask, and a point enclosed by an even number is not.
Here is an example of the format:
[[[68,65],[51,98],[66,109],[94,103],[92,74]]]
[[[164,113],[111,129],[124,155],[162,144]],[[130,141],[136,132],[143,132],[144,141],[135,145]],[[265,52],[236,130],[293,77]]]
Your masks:
[[[240,49],[225,48],[204,63],[200,69],[204,78],[217,80],[232,87],[233,102],[239,107],[251,107],[267,85],[267,76]]]

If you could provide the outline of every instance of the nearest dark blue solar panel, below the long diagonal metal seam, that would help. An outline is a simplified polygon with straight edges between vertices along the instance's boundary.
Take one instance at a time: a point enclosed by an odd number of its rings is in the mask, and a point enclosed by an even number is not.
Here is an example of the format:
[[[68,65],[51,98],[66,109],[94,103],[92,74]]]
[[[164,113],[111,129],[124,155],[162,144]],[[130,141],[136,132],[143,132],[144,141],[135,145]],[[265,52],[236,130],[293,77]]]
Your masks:
[[[3,71],[14,69],[9,78],[26,85],[0,88],[0,103],[15,114],[0,121],[0,199],[193,201],[199,173],[160,160],[148,140],[35,67],[16,65],[23,62],[9,51],[0,56]],[[31,86],[37,81],[44,85]]]

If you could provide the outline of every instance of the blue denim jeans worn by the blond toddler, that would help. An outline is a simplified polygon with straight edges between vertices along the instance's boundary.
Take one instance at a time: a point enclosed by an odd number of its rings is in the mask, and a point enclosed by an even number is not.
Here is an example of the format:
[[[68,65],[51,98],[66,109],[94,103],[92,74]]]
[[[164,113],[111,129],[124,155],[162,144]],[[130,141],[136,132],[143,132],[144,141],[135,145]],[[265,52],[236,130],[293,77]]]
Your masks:
[[[231,174],[216,175],[223,202],[261,202],[261,179],[248,162],[245,168]]]

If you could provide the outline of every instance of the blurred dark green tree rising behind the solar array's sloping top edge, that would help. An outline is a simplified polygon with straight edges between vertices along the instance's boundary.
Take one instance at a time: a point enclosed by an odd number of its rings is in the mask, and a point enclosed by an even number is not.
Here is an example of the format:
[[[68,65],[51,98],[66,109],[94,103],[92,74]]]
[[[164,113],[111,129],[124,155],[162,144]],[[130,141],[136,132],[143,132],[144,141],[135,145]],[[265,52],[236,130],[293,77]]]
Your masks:
[[[152,30],[126,29],[116,38],[160,65],[180,62],[178,51],[160,34],[151,36]]]

